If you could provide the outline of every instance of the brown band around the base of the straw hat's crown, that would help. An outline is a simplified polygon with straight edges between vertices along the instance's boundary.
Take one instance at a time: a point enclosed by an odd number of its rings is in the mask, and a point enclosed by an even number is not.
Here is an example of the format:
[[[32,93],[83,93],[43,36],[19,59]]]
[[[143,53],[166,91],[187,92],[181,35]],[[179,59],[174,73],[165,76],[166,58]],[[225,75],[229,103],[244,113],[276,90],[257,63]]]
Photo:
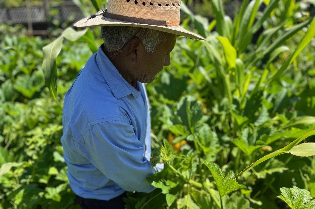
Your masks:
[[[178,26],[180,19],[164,21],[164,20],[155,20],[155,19],[142,19],[137,17],[128,17],[119,14],[112,14],[109,12],[104,12],[104,17],[117,19],[126,22],[139,23],[139,24],[148,24],[148,25],[163,25],[163,26]]]

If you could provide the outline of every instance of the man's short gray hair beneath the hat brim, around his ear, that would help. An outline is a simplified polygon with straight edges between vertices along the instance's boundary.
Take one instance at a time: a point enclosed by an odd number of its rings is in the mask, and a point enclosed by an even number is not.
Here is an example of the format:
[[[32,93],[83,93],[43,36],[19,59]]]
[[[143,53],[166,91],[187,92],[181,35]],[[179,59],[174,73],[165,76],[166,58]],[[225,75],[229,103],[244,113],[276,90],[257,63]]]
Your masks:
[[[147,52],[154,52],[157,45],[165,41],[168,35],[169,33],[163,31],[133,26],[101,27],[101,36],[104,40],[104,46],[109,52],[119,51],[132,37],[139,38]]]

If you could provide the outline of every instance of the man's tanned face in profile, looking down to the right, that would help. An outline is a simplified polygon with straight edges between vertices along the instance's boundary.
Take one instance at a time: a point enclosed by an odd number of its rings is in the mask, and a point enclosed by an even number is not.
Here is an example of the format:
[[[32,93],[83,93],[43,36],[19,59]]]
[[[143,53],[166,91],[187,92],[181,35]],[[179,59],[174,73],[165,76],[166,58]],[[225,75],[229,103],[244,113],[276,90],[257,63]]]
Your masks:
[[[164,66],[170,65],[169,53],[175,46],[176,38],[176,35],[169,34],[168,38],[157,45],[154,52],[147,52],[141,44],[143,49],[140,49],[142,53],[138,59],[136,80],[151,83]]]

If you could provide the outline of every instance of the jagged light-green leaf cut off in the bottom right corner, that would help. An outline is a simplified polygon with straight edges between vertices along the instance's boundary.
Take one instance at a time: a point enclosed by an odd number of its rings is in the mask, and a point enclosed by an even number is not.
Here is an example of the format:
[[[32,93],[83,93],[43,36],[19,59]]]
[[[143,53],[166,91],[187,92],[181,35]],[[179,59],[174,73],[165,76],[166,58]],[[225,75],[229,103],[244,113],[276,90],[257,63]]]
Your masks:
[[[280,191],[282,195],[278,198],[285,201],[292,209],[315,208],[315,201],[307,190],[293,186],[293,188],[282,187]]]

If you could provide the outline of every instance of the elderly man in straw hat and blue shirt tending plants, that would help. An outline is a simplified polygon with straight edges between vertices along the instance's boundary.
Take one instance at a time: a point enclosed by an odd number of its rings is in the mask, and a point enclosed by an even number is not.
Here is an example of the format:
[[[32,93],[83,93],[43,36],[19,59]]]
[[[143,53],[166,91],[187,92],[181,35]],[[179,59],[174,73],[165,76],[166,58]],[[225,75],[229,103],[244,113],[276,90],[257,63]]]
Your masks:
[[[149,161],[144,83],[170,64],[178,35],[203,38],[179,26],[180,1],[161,2],[110,0],[106,11],[75,24],[100,25],[104,40],[64,100],[61,143],[82,208],[124,208],[126,191],[152,192],[146,177],[163,169],[163,163],[152,167]]]

